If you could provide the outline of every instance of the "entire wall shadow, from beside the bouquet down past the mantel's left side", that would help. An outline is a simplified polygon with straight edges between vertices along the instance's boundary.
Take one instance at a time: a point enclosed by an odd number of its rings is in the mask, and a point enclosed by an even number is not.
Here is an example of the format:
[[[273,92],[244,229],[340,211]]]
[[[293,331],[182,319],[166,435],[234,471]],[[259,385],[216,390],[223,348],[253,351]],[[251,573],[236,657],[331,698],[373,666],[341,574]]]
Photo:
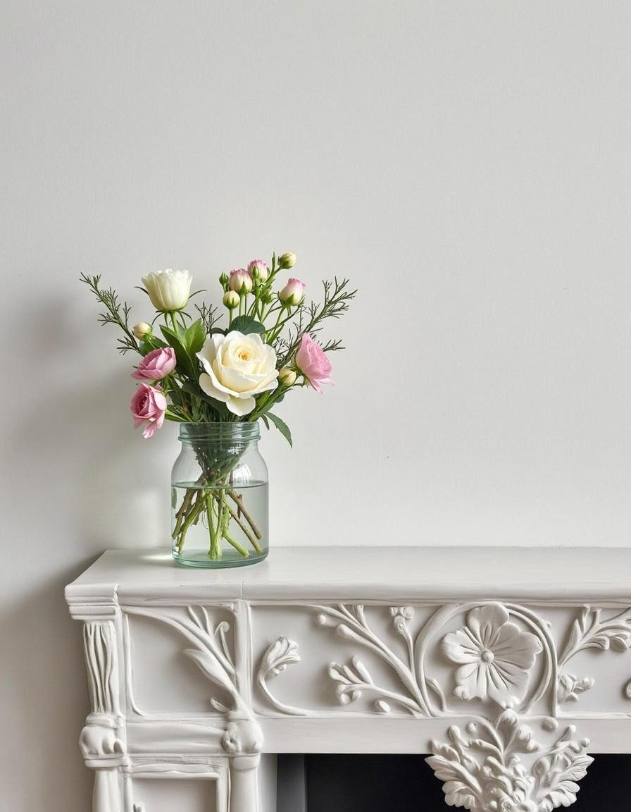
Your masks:
[[[5,379],[14,414],[2,426],[0,806],[11,812],[90,804],[92,775],[77,745],[88,713],[82,637],[64,586],[108,547],[168,549],[175,433],[148,443],[134,432],[134,361],[116,356],[114,328],[95,325],[79,294],[85,304],[79,289],[76,302],[48,297],[19,307],[28,330]]]

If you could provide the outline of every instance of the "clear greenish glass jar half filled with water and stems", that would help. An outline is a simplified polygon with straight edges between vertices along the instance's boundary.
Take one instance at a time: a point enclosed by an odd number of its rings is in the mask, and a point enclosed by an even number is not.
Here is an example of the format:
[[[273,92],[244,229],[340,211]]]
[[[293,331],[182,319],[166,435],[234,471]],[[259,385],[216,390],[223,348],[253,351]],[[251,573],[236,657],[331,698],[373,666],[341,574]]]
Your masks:
[[[173,557],[239,567],[268,555],[268,469],[259,424],[180,423],[171,474]]]

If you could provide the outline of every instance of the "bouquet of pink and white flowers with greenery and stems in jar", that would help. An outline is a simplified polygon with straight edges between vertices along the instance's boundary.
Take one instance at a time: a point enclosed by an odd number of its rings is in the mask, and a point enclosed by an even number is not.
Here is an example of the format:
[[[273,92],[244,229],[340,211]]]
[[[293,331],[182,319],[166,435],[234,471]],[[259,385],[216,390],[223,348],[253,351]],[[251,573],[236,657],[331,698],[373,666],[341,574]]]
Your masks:
[[[134,425],[142,427],[145,438],[165,420],[195,424],[260,420],[268,429],[275,425],[291,444],[289,427],[272,409],[290,391],[311,387],[321,393],[324,385],[333,383],[327,354],[343,347],[339,339],[321,342],[319,333],[323,322],[346,313],[356,293],[348,279],[323,280],[322,300],[306,304],[306,286],[299,279],[283,279],[282,287],[277,284],[279,275],[295,262],[294,253],[283,253],[274,255],[270,265],[253,260],[247,268],[221,274],[224,310],[201,302],[195,304],[195,318],[187,308],[201,291],[191,293],[191,274],[153,271],[142,278],[140,290],[156,316],[151,323],[135,326],[130,325],[130,306],[113,288],[101,287],[100,274],[81,275],[103,306],[101,324],[114,324],[122,331],[119,351],[140,356],[131,373],[138,384],[130,408]],[[216,455],[208,458],[200,446],[197,458],[202,476],[187,489],[175,513],[175,545],[181,550],[187,529],[201,519],[211,535],[211,558],[221,555],[221,539],[247,555],[231,533],[231,521],[238,520],[256,550],[258,529],[254,521],[248,524],[243,497],[230,487],[238,451],[226,451],[219,460]]]

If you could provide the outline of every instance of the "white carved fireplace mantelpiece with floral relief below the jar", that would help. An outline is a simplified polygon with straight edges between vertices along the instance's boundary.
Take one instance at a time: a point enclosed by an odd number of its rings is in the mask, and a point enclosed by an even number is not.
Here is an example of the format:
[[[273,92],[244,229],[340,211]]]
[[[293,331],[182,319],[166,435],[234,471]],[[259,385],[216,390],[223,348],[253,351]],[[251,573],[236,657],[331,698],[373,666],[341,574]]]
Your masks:
[[[453,806],[552,810],[587,751],[631,752],[631,550],[295,547],[222,571],[108,551],[66,596],[96,812],[153,812],[157,778],[267,812],[280,752],[431,753]]]

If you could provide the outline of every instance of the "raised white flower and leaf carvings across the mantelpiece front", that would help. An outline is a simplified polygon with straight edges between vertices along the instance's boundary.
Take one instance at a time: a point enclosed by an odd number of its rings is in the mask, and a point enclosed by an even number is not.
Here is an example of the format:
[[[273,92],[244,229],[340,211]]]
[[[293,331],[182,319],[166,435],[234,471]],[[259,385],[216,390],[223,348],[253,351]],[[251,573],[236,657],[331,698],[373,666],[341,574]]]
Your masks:
[[[557,709],[561,702],[577,702],[594,680],[569,672],[567,664],[586,649],[626,651],[631,644],[631,610],[583,607],[564,645],[559,645],[550,624],[518,604],[447,604],[424,620],[417,616],[416,624],[411,606],[368,607],[370,611],[361,603],[304,608],[313,613],[318,627],[333,631],[349,647],[346,662],[330,662],[326,667],[342,709],[365,695],[379,714],[419,719],[470,716],[464,729],[448,728],[447,741],[430,742],[427,762],[444,782],[449,806],[474,812],[552,812],[576,801],[577,782],[592,761],[586,754],[589,741],[578,736],[572,725],[555,733]],[[212,699],[212,706],[225,716],[221,739],[225,754],[254,757],[263,749],[247,685],[251,676],[268,707],[277,713],[316,714],[281,702],[270,687],[287,667],[300,662],[298,645],[288,637],[268,644],[253,663],[253,675],[242,672],[239,676],[228,644],[229,624],[212,624],[204,607],[187,607],[187,616],[174,615],[168,607],[125,611],[177,628],[189,643],[184,649],[187,657],[230,696],[228,704]],[[389,633],[383,627],[380,633],[375,630],[377,624],[371,619],[380,611],[388,617]],[[88,650],[93,652],[101,642],[105,649],[111,647],[110,631],[99,629],[105,635],[102,641],[93,634],[88,637]],[[109,663],[105,649],[95,659]],[[367,656],[358,656],[359,649]],[[374,668],[375,658],[379,669]],[[436,667],[439,661],[442,670]],[[445,665],[449,665],[447,672]],[[393,677],[388,684],[382,684],[384,666]],[[100,684],[112,684],[108,668],[99,675]],[[628,685],[621,687],[631,696]],[[453,698],[458,704],[453,704]],[[117,702],[114,696],[108,704]],[[463,711],[463,702],[470,704],[470,714]],[[543,718],[542,707],[547,708]],[[538,715],[530,716],[534,708]],[[537,725],[541,733],[534,732]]]

